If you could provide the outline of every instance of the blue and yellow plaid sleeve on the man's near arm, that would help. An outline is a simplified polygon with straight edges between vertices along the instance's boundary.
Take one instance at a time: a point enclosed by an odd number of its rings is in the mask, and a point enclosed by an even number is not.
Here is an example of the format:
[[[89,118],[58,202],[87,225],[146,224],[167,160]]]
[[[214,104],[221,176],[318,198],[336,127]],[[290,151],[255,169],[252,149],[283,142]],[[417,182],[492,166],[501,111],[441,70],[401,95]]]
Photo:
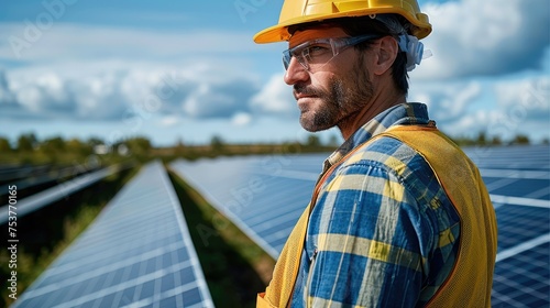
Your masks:
[[[405,180],[382,166],[353,164],[327,183],[308,229],[306,306],[417,304],[437,226]]]

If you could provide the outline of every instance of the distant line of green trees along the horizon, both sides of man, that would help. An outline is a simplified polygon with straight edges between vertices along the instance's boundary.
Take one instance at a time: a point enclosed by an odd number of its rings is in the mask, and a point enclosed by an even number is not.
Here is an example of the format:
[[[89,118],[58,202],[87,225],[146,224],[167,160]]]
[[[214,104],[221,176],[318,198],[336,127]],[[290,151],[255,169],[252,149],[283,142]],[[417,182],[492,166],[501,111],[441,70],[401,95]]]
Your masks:
[[[518,134],[514,139],[503,141],[499,136],[487,136],[485,132],[480,132],[475,138],[454,138],[453,141],[461,146],[473,145],[527,145],[530,140],[527,135]],[[549,140],[542,141],[549,144]],[[331,152],[340,145],[337,136],[331,136],[328,142],[322,142],[316,134],[309,134],[304,142],[282,142],[282,143],[250,143],[235,144],[228,143],[219,135],[211,138],[208,144],[191,145],[178,141],[173,146],[154,147],[152,142],[145,136],[133,136],[121,140],[113,144],[107,144],[99,138],[87,140],[68,139],[53,136],[38,140],[34,133],[21,134],[15,142],[11,143],[7,138],[0,136],[0,162],[10,162],[15,158],[42,157],[40,161],[76,160],[89,155],[106,156],[132,156],[133,158],[185,157],[189,160],[198,157],[215,157],[219,155],[246,155],[246,154],[300,154],[312,152]],[[14,155],[18,154],[18,155]],[[68,158],[67,155],[70,157]],[[11,157],[11,160],[10,160]],[[61,158],[59,158],[61,157]]]

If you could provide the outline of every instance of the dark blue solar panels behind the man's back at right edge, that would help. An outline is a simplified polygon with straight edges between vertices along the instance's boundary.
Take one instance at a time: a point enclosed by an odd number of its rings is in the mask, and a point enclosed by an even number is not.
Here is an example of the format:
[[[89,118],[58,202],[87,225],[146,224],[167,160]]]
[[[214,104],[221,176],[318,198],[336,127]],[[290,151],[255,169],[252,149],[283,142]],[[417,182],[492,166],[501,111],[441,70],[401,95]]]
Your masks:
[[[493,307],[550,306],[550,148],[477,147],[498,223]]]

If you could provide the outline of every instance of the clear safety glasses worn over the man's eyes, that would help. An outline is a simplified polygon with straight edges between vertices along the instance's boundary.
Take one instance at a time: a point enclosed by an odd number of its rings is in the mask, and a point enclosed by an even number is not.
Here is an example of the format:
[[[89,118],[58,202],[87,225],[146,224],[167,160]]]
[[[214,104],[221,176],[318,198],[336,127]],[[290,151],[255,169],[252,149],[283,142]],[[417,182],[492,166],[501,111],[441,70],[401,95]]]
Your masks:
[[[288,69],[290,59],[295,57],[306,70],[311,72],[324,66],[345,48],[380,37],[380,35],[375,34],[365,34],[352,37],[317,38],[304,42],[283,52],[283,64],[285,65],[285,69]]]

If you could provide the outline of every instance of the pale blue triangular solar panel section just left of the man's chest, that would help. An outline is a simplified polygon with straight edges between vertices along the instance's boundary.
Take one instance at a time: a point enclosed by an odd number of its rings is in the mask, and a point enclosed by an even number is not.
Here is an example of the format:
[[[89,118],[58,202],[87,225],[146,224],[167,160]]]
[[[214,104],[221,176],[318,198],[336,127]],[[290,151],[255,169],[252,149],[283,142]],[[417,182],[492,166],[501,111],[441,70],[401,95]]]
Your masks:
[[[179,160],[170,168],[276,258],[307,206],[324,156]]]

